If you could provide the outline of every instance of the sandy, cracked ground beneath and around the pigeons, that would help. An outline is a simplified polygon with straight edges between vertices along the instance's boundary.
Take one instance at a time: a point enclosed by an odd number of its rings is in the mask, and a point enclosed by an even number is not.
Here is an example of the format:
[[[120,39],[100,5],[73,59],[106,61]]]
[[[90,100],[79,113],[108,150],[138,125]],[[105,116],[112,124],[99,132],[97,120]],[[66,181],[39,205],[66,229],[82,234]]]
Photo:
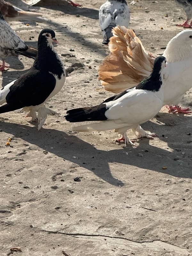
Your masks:
[[[31,7],[44,14],[47,24],[12,22],[12,28],[33,46],[42,28],[53,28],[66,68],[74,63],[82,68],[75,67],[46,103],[61,115],[48,117],[39,132],[20,110],[0,116],[0,255],[10,255],[12,247],[21,249],[13,253],[18,256],[191,255],[191,116],[162,108],[142,125],[159,138],[139,140],[134,148],[115,143],[113,131],[72,132],[64,119],[67,109],[112,95],[97,79],[108,54],[98,21],[103,1],[79,0],[83,8],[52,2]],[[163,53],[161,47],[180,31],[174,24],[184,21],[183,10],[171,0],[129,6],[130,26],[144,46]],[[7,63],[2,86],[33,61],[20,56]],[[183,106],[190,105],[191,93],[185,94]],[[5,146],[9,137],[11,147]]]

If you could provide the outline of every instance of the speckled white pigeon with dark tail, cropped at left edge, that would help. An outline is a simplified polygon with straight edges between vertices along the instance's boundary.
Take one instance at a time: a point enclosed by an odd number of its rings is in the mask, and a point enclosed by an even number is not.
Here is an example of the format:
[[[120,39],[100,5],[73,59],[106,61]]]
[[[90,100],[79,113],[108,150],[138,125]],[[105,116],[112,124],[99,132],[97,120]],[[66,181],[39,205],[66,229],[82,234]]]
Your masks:
[[[19,54],[35,60],[37,49],[25,44],[4,20],[0,12],[0,59],[3,60],[3,64],[0,65],[0,71],[4,71],[5,69],[6,57],[18,56]]]

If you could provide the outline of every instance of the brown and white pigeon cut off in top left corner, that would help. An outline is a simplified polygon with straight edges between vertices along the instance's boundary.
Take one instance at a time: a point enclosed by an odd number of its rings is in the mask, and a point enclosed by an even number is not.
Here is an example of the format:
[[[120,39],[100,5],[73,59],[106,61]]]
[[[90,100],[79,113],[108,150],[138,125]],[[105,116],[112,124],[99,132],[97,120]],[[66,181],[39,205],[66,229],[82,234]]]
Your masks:
[[[26,12],[22,9],[0,0],[0,12],[2,12],[4,19],[7,21],[12,20],[32,20],[36,22],[43,22],[47,19],[41,17],[42,14],[39,12]]]

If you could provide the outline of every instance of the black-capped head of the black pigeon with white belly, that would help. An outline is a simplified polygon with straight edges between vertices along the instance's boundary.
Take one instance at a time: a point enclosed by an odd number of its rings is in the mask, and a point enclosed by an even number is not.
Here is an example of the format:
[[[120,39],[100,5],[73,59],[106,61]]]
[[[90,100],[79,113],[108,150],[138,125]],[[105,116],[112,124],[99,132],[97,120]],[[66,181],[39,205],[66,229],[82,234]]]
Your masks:
[[[38,45],[46,43],[48,46],[51,46],[52,42],[58,44],[58,41],[55,37],[55,32],[50,28],[44,28],[39,34]]]

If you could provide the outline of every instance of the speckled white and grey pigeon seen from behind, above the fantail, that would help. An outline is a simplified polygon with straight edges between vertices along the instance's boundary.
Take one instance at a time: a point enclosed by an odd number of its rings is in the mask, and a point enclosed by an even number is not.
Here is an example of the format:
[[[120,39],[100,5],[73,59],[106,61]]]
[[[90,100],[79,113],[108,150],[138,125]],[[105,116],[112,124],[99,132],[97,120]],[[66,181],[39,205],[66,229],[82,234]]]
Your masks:
[[[103,44],[109,43],[113,36],[112,28],[119,26],[128,27],[130,10],[125,0],[107,0],[99,9],[100,28],[103,33]]]

